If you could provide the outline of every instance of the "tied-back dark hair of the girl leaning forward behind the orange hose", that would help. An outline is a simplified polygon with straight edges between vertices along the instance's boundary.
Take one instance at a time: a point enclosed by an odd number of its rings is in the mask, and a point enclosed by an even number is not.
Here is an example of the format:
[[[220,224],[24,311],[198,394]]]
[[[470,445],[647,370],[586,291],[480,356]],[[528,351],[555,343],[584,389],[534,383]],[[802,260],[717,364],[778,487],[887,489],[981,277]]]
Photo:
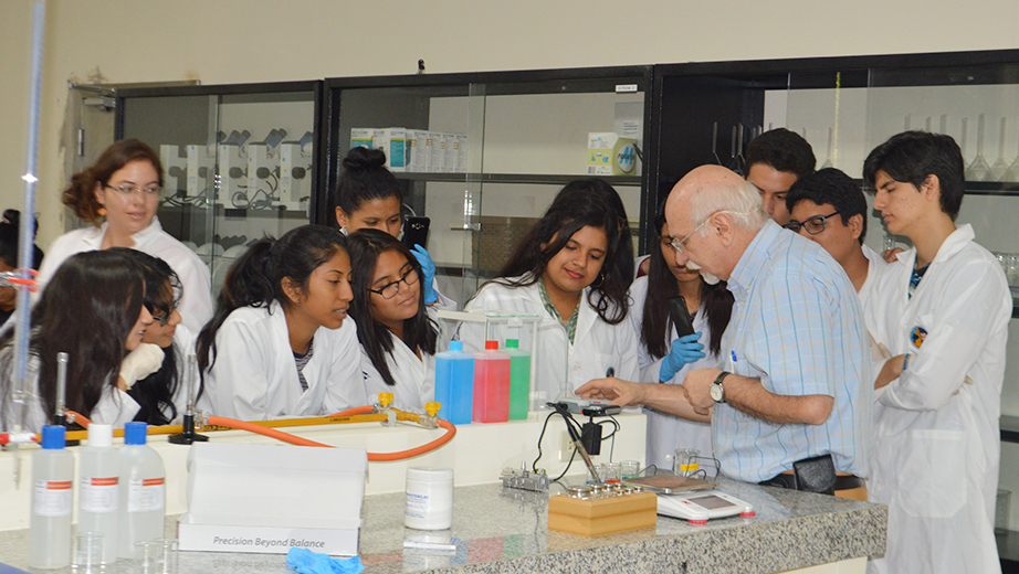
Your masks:
[[[265,237],[252,245],[230,266],[216,298],[216,312],[198,334],[200,372],[204,373],[216,362],[216,332],[234,309],[271,307],[273,301],[288,308],[291,300],[283,293],[283,278],[306,291],[312,273],[338,252],[346,251],[346,243],[337,230],[302,225],[279,240]],[[201,395],[201,390],[198,394]]]

